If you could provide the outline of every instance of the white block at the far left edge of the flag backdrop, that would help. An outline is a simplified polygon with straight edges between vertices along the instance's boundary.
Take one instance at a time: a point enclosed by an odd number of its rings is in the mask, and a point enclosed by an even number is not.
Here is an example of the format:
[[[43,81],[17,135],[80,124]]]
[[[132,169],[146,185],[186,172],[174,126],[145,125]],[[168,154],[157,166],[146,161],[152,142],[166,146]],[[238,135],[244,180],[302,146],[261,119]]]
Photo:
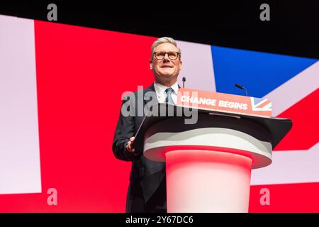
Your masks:
[[[0,194],[41,192],[34,21],[0,15]]]

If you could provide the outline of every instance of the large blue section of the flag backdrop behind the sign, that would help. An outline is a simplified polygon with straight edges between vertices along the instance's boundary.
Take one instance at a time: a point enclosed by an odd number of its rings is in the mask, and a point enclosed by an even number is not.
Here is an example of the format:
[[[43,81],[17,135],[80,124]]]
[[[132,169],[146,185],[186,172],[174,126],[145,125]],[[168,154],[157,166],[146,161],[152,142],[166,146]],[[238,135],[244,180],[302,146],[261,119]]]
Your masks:
[[[262,97],[296,76],[315,59],[211,46],[216,92]]]

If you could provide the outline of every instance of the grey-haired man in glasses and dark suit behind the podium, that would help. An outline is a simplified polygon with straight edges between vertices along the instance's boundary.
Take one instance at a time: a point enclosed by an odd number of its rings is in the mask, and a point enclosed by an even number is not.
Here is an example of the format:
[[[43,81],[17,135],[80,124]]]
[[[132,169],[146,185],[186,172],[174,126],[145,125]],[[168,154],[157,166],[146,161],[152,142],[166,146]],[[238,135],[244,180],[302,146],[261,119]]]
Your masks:
[[[181,50],[174,39],[163,37],[152,44],[150,70],[154,74],[155,82],[149,88],[143,89],[142,94],[156,92],[158,102],[176,104],[179,89],[177,77],[181,70]],[[133,105],[136,110],[138,109],[136,100],[141,97],[138,96],[138,92],[135,92],[134,95],[135,99],[128,101],[130,106]],[[132,103],[133,100],[135,103]],[[144,99],[143,105],[147,105],[148,101]],[[132,162],[126,212],[166,212],[165,163],[148,160],[142,155],[142,150],[135,150],[133,145],[134,135],[143,117],[135,114],[126,116],[121,112],[113,139],[114,155],[120,160]]]

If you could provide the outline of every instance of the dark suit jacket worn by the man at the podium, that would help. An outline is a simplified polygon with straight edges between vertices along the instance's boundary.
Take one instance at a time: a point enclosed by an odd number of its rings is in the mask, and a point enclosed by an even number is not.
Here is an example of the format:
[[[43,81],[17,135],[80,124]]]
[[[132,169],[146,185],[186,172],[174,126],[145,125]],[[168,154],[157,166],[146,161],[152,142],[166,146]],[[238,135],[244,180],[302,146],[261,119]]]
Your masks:
[[[149,88],[143,89],[142,92],[155,92],[154,84]],[[116,131],[113,138],[113,153],[120,159],[125,161],[132,162],[132,168],[130,171],[130,187],[128,189],[128,197],[126,201],[126,211],[127,212],[143,212],[147,211],[145,204],[147,201],[152,198],[152,195],[157,191],[159,197],[165,200],[165,209],[166,209],[166,186],[160,187],[162,181],[166,181],[165,177],[165,163],[164,162],[153,162],[148,160],[144,155],[142,155],[142,150],[135,150],[140,153],[135,156],[128,152],[125,148],[126,144],[130,137],[135,136],[136,131],[144,116],[137,116],[137,103],[138,103],[138,92],[134,93],[135,95],[135,116],[123,116],[120,114],[118,119],[118,125],[116,126]],[[128,100],[131,101],[131,100]],[[125,104],[126,101],[123,101]],[[149,101],[143,100],[143,107],[147,105]],[[150,106],[148,106],[149,108]],[[142,147],[142,146],[140,146]],[[135,204],[134,204],[135,203]],[[159,201],[162,203],[162,201]],[[144,204],[144,205],[143,205]]]

